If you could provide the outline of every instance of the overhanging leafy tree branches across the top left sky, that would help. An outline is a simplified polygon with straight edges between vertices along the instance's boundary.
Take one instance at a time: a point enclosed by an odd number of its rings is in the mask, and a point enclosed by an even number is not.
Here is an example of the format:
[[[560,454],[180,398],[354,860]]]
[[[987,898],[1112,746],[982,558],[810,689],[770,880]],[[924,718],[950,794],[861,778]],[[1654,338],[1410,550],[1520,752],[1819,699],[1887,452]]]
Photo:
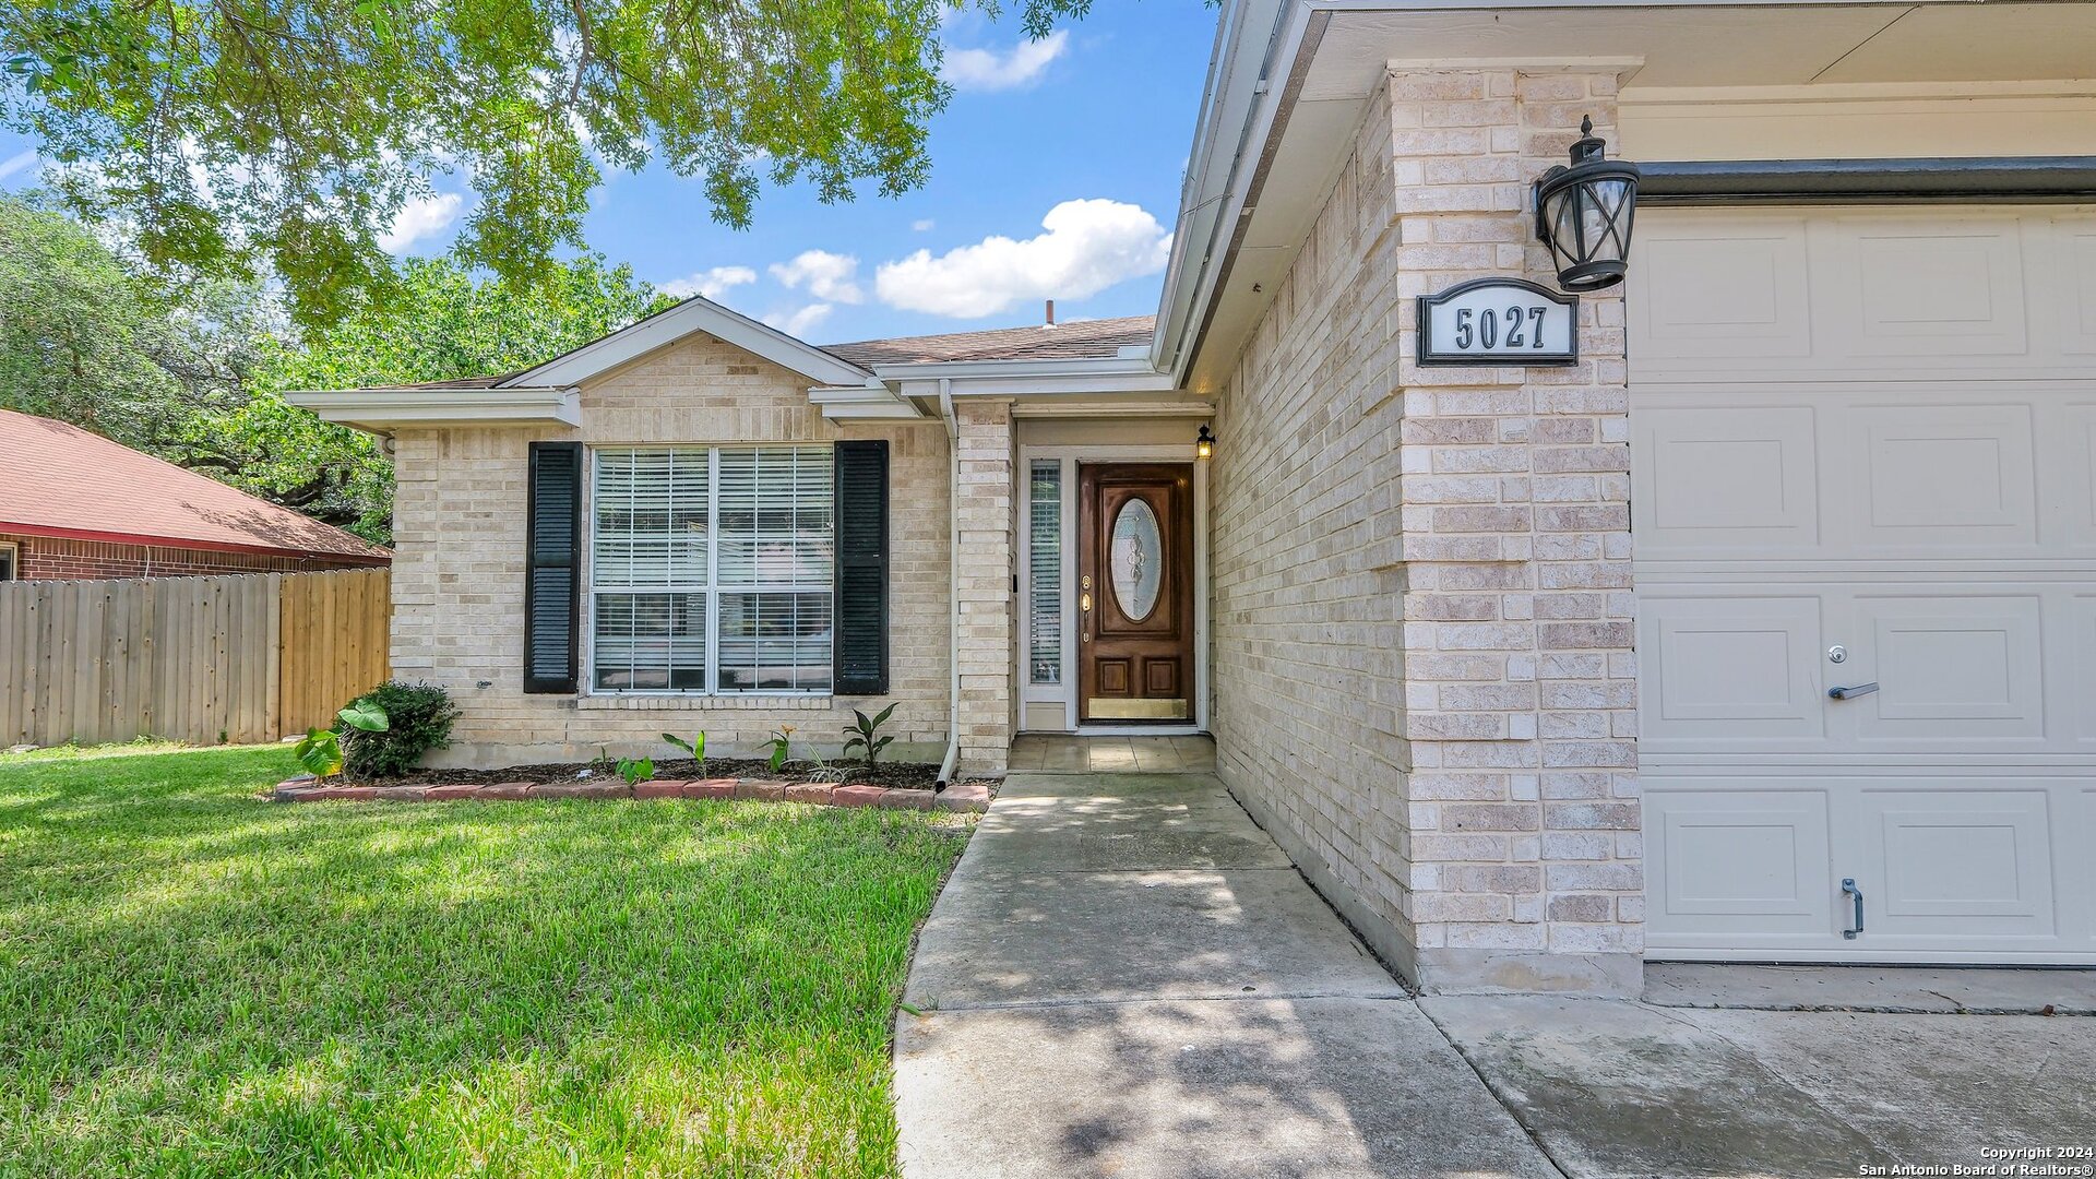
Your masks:
[[[1019,0],[1033,36],[1090,0]],[[377,237],[459,172],[461,262],[534,283],[602,170],[660,159],[746,224],[926,176],[945,0],[0,0],[0,126],[161,271],[279,275],[325,323],[388,294]],[[998,10],[998,0],[975,0]]]

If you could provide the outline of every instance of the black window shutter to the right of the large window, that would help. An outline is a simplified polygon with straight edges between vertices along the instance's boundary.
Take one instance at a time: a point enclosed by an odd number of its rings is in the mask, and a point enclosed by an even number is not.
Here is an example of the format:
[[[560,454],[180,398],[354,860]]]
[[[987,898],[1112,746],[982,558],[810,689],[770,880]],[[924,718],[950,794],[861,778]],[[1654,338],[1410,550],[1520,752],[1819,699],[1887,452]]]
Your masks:
[[[836,445],[836,694],[889,690],[889,443]]]

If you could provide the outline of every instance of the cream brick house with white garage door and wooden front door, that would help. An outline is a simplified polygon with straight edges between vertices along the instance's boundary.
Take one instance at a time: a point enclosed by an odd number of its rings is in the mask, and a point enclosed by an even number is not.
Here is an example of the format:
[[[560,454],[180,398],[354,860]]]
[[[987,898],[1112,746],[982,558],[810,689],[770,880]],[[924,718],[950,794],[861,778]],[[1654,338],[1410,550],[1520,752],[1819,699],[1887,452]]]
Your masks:
[[[482,762],[1207,730],[1427,988],[2088,965],[2092,61],[2079,2],[1239,0],[1155,325],[692,300],[298,401],[396,438],[394,663]],[[1557,287],[1582,117],[1643,164],[1629,281],[1572,363],[1421,365],[1417,296]]]

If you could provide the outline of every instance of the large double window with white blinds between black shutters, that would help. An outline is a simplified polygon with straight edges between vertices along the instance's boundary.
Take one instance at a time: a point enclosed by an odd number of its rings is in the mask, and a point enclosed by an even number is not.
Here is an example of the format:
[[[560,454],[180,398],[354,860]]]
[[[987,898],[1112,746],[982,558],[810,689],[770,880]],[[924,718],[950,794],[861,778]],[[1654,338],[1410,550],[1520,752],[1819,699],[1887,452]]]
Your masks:
[[[830,447],[593,455],[597,690],[832,688]]]

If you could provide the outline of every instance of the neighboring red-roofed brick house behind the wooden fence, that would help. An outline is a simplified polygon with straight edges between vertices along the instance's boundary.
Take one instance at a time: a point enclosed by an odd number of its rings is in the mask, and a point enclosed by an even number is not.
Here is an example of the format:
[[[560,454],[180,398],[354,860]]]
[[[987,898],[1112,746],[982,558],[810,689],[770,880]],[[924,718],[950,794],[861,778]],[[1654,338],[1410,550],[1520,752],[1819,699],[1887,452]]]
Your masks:
[[[0,409],[0,581],[384,566],[392,554],[65,422]]]

